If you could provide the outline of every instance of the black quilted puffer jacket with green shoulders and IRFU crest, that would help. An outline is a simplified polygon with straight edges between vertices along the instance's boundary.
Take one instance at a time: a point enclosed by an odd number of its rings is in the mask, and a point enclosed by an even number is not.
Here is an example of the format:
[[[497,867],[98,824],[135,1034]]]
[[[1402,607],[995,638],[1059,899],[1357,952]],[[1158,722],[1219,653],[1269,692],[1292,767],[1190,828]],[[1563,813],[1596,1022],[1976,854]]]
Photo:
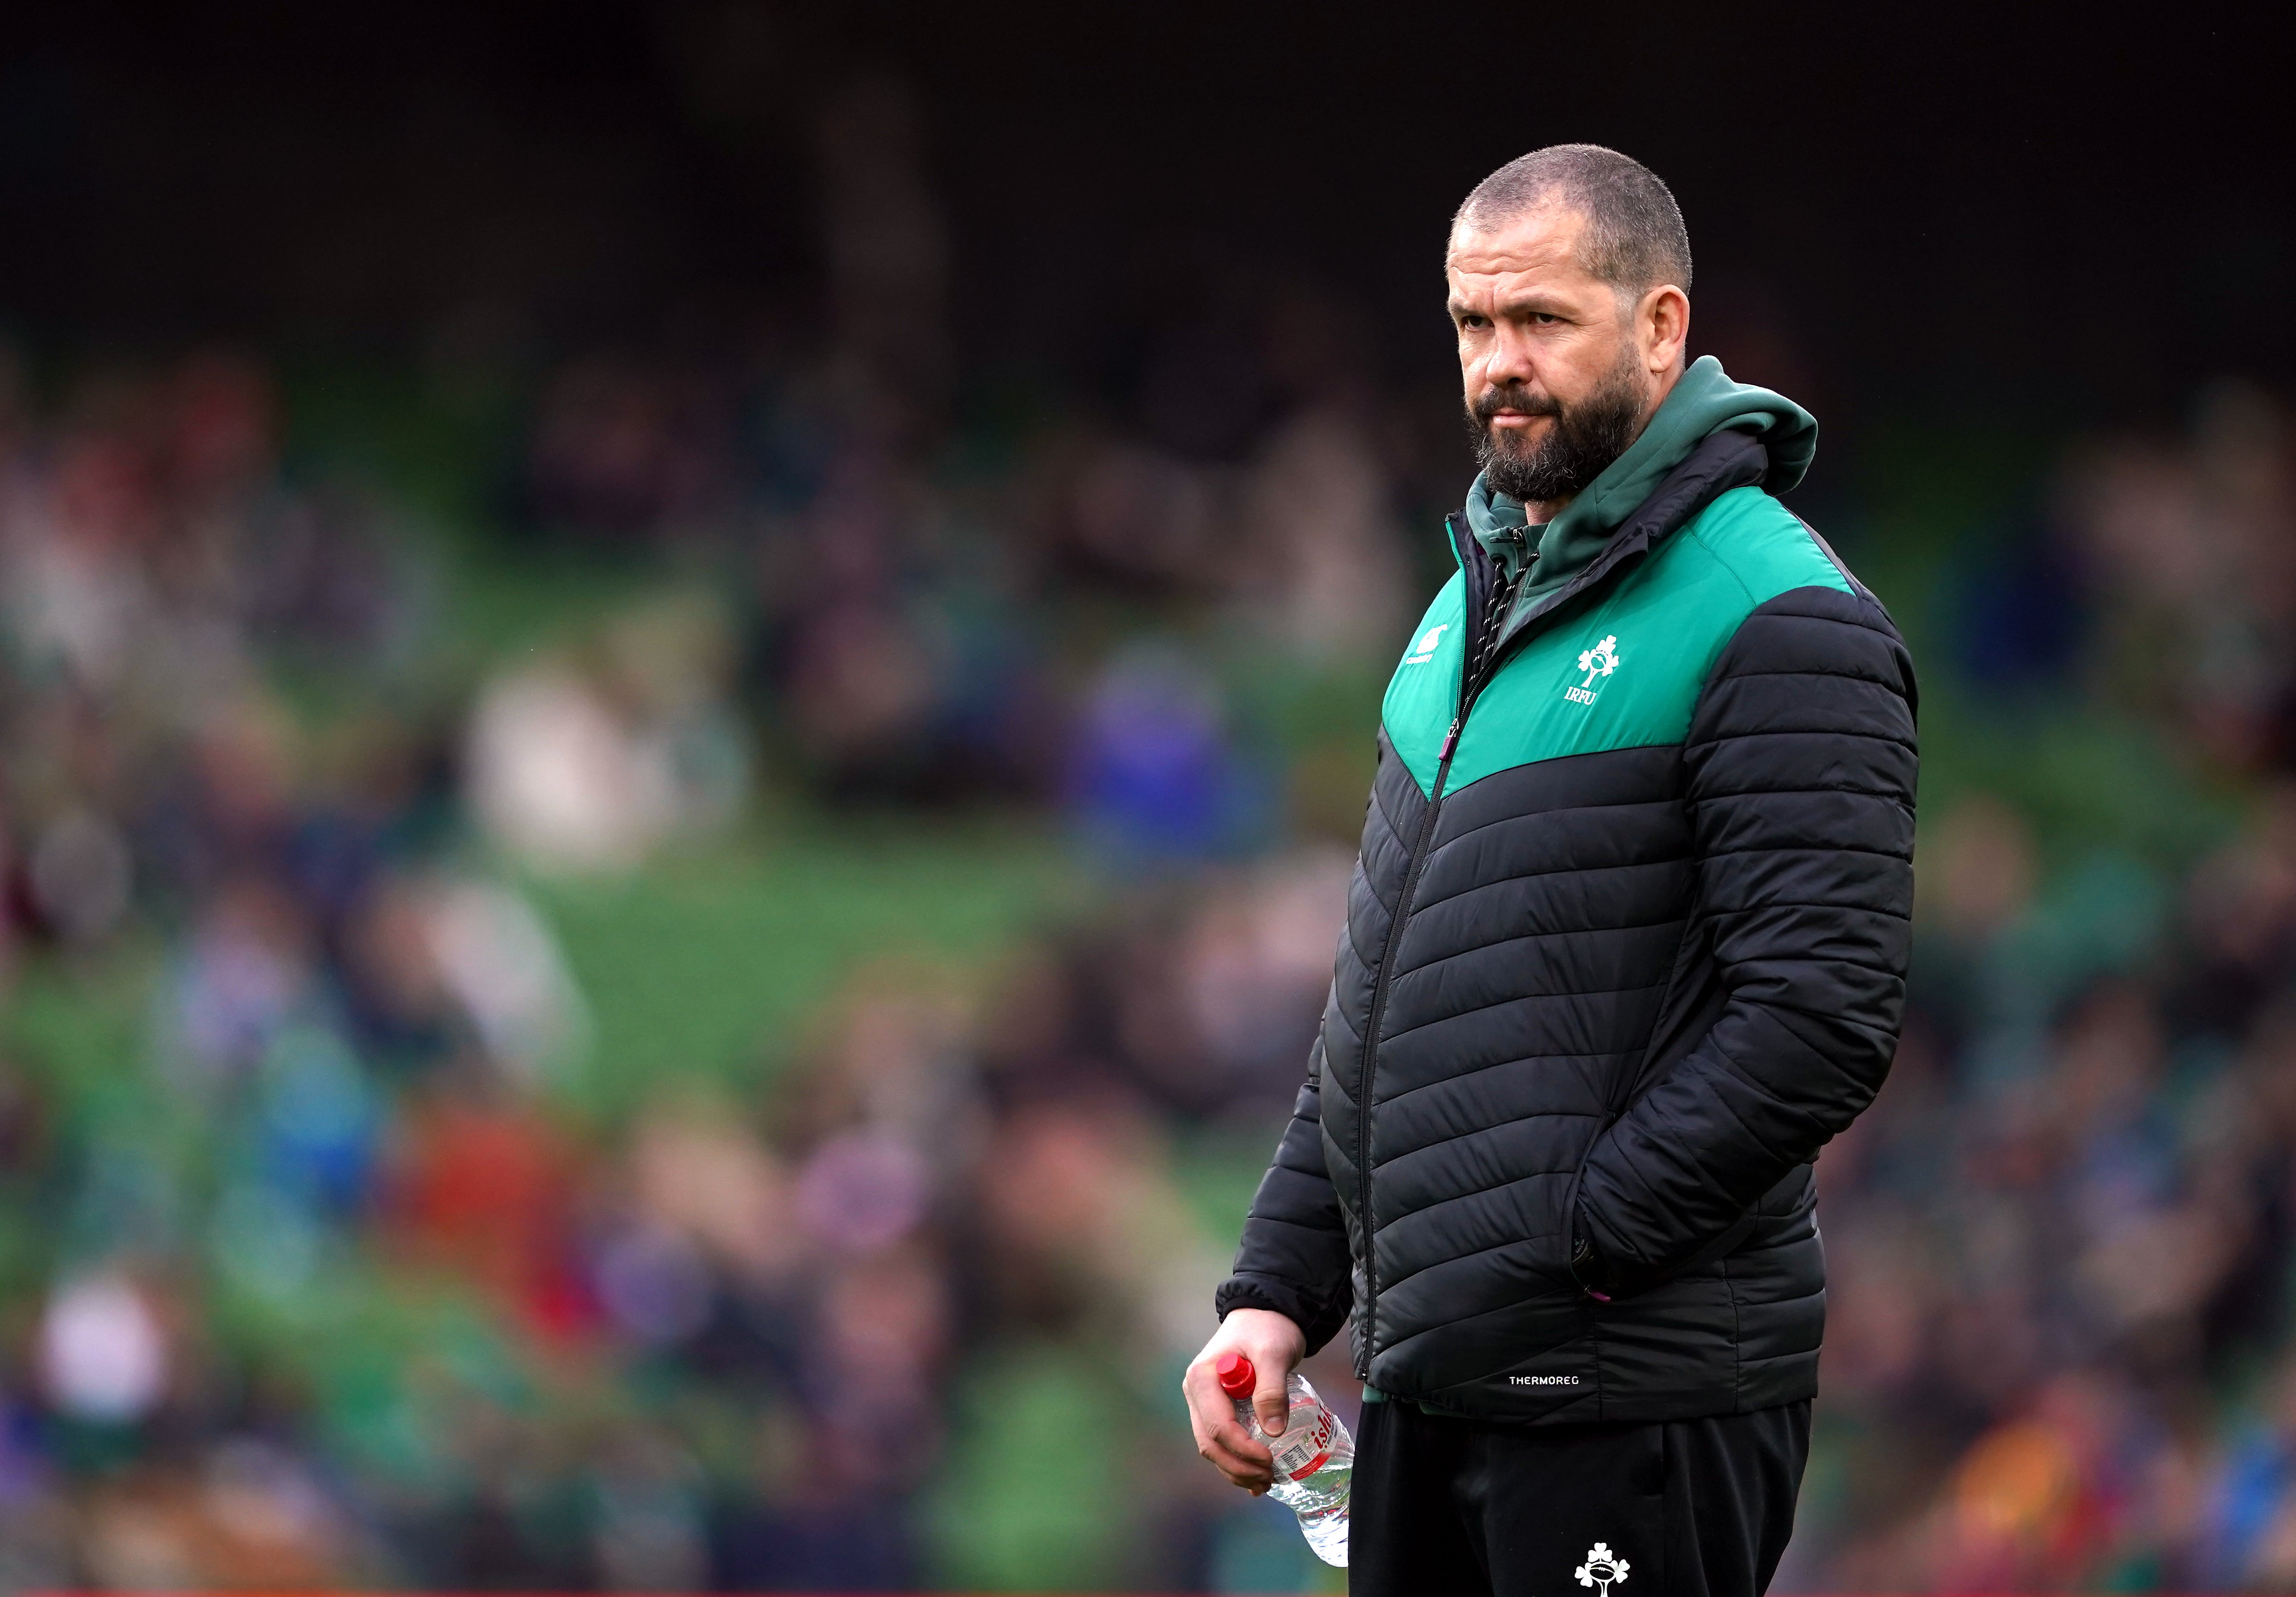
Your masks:
[[[1375,1388],[1481,1418],[1816,1390],[1812,1158],[1896,1046],[1915,680],[1766,469],[1708,437],[1488,662],[1453,531],[1221,1314],[1352,1321]]]

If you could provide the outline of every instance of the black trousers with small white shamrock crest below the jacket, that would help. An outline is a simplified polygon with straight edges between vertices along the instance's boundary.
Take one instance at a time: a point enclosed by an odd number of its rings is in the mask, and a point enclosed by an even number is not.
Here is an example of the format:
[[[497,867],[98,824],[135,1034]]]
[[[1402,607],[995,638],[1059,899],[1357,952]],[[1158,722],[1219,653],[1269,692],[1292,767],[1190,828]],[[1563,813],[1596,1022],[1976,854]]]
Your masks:
[[[1662,1425],[1483,1425],[1364,1404],[1350,1597],[1761,1597],[1809,1404]]]

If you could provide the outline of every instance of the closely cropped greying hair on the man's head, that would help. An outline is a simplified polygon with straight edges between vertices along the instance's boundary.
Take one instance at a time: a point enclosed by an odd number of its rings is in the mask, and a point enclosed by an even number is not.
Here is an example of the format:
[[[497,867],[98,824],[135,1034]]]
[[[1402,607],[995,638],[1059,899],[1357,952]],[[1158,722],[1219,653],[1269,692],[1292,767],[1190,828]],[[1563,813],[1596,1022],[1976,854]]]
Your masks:
[[[1690,287],[1690,230],[1658,172],[1603,145],[1548,145],[1515,156],[1474,186],[1451,218],[1495,232],[1518,216],[1561,205],[1587,218],[1580,264],[1628,294],[1660,283]]]

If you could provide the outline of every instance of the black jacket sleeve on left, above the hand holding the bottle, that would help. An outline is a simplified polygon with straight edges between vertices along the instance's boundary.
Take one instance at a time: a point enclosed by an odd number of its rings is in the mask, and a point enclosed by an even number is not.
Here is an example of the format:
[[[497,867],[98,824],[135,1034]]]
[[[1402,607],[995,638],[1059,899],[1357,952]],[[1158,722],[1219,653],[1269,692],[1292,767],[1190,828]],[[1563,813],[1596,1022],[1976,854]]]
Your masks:
[[[1348,1225],[1322,1165],[1320,1064],[1318,1041],[1318,1068],[1309,1071],[1277,1158],[1261,1176],[1235,1273],[1215,1298],[1221,1317],[1238,1307],[1290,1317],[1306,1333],[1309,1353],[1339,1335],[1352,1303]]]

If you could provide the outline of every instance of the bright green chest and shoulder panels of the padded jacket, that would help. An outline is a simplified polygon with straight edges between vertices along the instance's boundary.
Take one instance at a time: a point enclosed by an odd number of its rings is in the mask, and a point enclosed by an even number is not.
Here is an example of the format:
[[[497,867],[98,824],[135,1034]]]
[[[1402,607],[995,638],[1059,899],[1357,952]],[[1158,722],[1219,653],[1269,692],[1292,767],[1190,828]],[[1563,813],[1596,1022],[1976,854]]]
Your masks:
[[[1474,703],[1449,788],[1566,754],[1681,742],[1715,657],[1745,616],[1791,588],[1848,593],[1782,503],[1733,487],[1658,545],[1593,604],[1520,646]],[[1465,577],[1419,620],[1387,687],[1387,740],[1430,793],[1458,708]]]

